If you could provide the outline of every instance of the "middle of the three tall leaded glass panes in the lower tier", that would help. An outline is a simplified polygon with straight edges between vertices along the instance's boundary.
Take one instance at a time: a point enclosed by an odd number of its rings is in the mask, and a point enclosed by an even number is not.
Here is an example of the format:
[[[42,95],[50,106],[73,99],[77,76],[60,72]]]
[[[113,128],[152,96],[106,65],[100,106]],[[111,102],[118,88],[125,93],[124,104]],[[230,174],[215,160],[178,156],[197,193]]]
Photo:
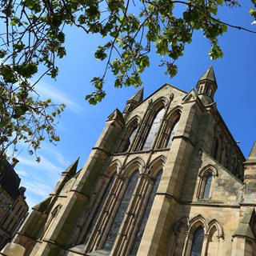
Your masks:
[[[122,224],[122,220],[125,217],[127,207],[129,205],[130,199],[134,193],[134,188],[138,181],[138,170],[134,172],[131,176],[130,181],[126,187],[126,192],[122,197],[122,202],[118,206],[118,210],[114,216],[114,221],[110,226],[110,231],[106,236],[106,242],[103,246],[104,250],[111,250],[114,245],[114,240],[118,235],[118,230]]]

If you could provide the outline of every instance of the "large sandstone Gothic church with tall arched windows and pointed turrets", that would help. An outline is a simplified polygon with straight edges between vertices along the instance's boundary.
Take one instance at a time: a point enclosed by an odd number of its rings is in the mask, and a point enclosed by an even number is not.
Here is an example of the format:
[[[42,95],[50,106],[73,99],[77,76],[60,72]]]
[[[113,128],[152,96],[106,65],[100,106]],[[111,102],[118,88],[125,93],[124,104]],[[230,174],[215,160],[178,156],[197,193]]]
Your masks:
[[[196,90],[139,90],[62,173],[13,242],[30,256],[256,255],[256,144],[246,160],[210,67]]]

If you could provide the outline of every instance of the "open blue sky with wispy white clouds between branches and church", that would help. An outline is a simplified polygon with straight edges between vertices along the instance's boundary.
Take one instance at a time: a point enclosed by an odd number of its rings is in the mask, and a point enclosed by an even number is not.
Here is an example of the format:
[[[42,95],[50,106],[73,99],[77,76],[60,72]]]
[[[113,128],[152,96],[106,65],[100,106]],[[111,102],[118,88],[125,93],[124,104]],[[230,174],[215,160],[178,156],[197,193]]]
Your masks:
[[[251,25],[250,3],[236,10],[220,11],[222,20],[233,25],[245,26],[256,31]],[[256,140],[256,86],[255,86],[255,45],[256,34],[242,30],[228,29],[220,45],[224,57],[211,61],[207,52],[210,45],[202,32],[194,34],[193,42],[186,46],[184,56],[178,61],[178,74],[168,78],[164,70],[158,67],[160,57],[151,54],[151,65],[142,76],[144,98],[157,90],[164,83],[186,91],[195,88],[198,79],[209,68],[214,66],[218,82],[215,94],[218,110],[233,134],[240,141],[239,146],[247,157]],[[43,78],[38,84],[38,92],[44,98],[52,98],[54,102],[66,104],[66,110],[58,123],[58,134],[61,142],[58,146],[42,143],[38,152],[42,161],[38,164],[22,146],[18,155],[19,163],[15,170],[22,178],[22,186],[26,186],[26,198],[29,206],[34,206],[53,190],[63,170],[80,157],[78,168],[86,162],[91,148],[97,141],[105,126],[106,118],[116,109],[123,110],[126,100],[139,89],[114,89],[114,79],[109,74],[106,80],[106,98],[97,106],[90,106],[84,100],[86,94],[94,90],[90,79],[100,76],[104,64],[94,59],[96,46],[102,43],[98,36],[88,36],[76,29],[67,30],[67,56],[59,61],[57,81]]]

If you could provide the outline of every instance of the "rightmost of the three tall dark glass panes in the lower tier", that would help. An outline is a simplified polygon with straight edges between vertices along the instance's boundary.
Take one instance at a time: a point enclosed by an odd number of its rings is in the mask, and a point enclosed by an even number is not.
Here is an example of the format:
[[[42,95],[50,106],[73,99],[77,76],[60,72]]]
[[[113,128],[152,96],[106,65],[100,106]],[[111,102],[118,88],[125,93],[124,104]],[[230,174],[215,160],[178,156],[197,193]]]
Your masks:
[[[152,207],[153,202],[154,202],[154,195],[156,194],[156,192],[158,190],[158,185],[159,185],[159,182],[161,180],[161,177],[162,177],[162,170],[160,170],[158,172],[158,175],[157,175],[157,177],[154,181],[154,186],[153,186],[153,189],[151,190],[150,198],[149,198],[149,201],[146,205],[146,210],[145,210],[144,215],[142,217],[142,222],[141,222],[141,225],[138,229],[138,233],[137,233],[137,236],[135,238],[134,246],[132,247],[132,252],[131,252],[130,256],[135,256],[138,252],[138,246],[140,245],[140,243],[142,241],[142,235],[143,235],[145,227],[146,227],[147,219],[149,218],[149,215],[150,215],[150,210],[151,210],[151,207]]]

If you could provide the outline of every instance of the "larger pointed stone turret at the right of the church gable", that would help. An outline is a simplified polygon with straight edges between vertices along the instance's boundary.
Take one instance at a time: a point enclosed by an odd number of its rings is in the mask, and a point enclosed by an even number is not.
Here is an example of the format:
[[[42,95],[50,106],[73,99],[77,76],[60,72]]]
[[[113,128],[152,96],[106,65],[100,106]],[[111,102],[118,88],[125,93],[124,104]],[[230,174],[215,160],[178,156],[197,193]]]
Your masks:
[[[202,75],[197,83],[198,97],[204,105],[214,102],[214,93],[217,90],[217,82],[213,66],[210,66],[206,73]]]

